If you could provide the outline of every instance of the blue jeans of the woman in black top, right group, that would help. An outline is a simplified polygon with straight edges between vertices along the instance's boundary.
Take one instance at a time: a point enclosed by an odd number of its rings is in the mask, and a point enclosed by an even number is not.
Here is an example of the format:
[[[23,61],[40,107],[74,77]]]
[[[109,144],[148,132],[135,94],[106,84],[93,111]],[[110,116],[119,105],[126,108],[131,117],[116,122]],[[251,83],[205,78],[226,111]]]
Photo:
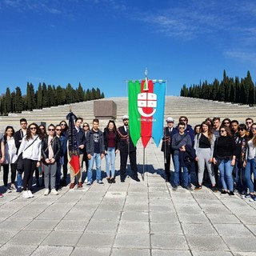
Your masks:
[[[233,172],[234,166],[231,166],[231,160],[222,159],[218,166],[221,175],[221,182],[223,190],[234,190]]]

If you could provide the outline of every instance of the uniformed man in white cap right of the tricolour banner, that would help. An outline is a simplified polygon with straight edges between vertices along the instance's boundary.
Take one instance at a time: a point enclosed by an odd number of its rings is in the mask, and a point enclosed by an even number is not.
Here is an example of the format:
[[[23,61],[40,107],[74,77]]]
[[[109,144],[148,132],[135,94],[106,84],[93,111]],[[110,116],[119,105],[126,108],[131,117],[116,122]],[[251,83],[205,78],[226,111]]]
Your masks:
[[[170,158],[173,161],[174,150],[171,148],[171,138],[174,134],[174,118],[166,118],[167,126],[163,130],[162,148],[165,159],[166,182],[170,182]]]

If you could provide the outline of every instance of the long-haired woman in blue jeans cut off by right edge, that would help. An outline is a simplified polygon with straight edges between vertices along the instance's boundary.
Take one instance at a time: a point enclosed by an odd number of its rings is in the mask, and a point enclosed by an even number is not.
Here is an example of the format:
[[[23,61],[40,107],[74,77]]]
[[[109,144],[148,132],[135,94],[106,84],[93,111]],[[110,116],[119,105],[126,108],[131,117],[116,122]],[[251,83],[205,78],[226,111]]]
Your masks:
[[[245,199],[250,199],[250,201],[256,201],[256,195],[254,194],[254,182],[252,181],[252,174],[254,174],[254,181],[256,179],[256,122],[250,126],[251,138],[248,141],[248,146],[246,150],[246,160],[244,162],[245,179],[246,185],[249,188],[249,194],[244,196]]]

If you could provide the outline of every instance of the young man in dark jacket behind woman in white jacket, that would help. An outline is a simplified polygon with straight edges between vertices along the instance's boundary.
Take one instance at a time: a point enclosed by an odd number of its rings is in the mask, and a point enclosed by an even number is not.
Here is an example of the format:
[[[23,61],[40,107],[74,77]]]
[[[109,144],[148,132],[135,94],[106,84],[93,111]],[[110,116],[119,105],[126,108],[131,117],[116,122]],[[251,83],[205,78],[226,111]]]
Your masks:
[[[16,131],[14,134],[14,140],[15,140],[15,146],[17,148],[17,154],[18,154],[18,149],[21,146],[22,143],[22,138],[26,135],[26,118],[21,118],[19,120],[21,129]],[[23,174],[23,169],[22,170],[17,170],[17,190],[16,192],[21,193],[22,192],[22,174]]]

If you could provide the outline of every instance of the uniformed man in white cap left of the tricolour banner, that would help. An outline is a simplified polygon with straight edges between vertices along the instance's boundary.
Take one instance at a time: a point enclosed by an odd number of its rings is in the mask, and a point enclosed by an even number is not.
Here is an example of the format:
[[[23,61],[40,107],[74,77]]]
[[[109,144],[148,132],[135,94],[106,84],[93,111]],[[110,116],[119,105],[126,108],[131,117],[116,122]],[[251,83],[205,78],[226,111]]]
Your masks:
[[[136,158],[136,146],[132,142],[129,134],[129,117],[124,115],[122,117],[123,126],[118,128],[118,134],[120,137],[120,178],[121,182],[125,182],[126,179],[126,165],[129,155],[130,167],[131,167],[131,178],[136,182],[140,182],[138,178],[138,167]]]

